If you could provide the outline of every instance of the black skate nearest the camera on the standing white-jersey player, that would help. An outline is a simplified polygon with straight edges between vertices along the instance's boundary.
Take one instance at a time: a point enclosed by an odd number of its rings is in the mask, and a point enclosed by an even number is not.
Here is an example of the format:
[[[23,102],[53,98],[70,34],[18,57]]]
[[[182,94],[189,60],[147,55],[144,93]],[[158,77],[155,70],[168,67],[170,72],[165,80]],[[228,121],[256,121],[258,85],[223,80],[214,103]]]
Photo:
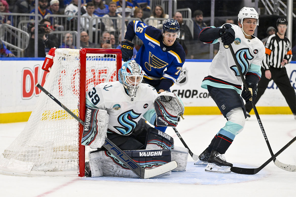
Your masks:
[[[218,172],[218,173],[230,173],[230,168],[233,165],[226,162],[224,155],[212,150],[211,155],[208,159],[207,167],[205,167],[206,172]]]

